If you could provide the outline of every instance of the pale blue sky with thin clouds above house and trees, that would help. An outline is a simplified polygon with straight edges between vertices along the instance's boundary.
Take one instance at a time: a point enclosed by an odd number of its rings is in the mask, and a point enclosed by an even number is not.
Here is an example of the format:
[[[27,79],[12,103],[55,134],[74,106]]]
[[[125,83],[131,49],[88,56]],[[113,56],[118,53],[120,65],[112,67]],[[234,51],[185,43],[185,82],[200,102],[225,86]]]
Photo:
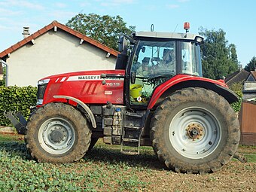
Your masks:
[[[245,66],[256,56],[256,1],[254,0],[0,0],[0,52],[23,39],[23,26],[30,34],[53,20],[66,24],[81,14],[119,15],[136,31],[190,32],[200,27],[223,29],[228,44],[235,44],[239,62]]]

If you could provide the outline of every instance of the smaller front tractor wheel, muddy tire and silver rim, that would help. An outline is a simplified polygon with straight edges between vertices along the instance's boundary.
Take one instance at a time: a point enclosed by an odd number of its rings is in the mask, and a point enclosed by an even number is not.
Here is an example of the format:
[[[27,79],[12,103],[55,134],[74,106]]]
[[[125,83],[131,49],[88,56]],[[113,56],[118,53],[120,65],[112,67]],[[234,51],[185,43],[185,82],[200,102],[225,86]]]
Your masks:
[[[80,111],[64,103],[38,108],[27,123],[26,147],[38,162],[71,163],[84,157],[91,131]]]

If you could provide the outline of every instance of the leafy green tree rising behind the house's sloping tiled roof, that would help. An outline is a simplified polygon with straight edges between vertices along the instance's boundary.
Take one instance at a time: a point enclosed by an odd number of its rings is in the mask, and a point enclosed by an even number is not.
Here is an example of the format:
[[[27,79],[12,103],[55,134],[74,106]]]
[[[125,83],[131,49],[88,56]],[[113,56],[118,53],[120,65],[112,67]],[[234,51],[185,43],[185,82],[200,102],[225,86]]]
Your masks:
[[[130,35],[135,31],[136,26],[126,27],[126,23],[120,16],[111,17],[109,15],[100,16],[98,14],[78,14],[72,17],[66,26],[87,35],[108,47],[117,50],[120,34]]]

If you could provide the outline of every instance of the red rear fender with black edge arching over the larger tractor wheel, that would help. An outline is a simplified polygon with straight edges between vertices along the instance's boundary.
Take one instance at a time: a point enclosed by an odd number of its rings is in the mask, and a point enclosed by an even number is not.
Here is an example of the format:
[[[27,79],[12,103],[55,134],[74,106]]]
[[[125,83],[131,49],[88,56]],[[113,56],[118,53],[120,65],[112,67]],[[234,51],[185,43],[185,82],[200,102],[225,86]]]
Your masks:
[[[181,90],[187,87],[201,87],[207,90],[212,90],[215,93],[223,96],[229,103],[237,102],[239,100],[236,93],[228,89],[227,85],[221,81],[200,77],[191,78],[190,76],[187,76],[183,78],[181,77],[178,81],[173,81],[170,79],[157,87],[156,90],[154,90],[151,101],[148,104],[148,109],[155,108],[160,102],[163,101],[163,99],[170,96],[176,90]]]

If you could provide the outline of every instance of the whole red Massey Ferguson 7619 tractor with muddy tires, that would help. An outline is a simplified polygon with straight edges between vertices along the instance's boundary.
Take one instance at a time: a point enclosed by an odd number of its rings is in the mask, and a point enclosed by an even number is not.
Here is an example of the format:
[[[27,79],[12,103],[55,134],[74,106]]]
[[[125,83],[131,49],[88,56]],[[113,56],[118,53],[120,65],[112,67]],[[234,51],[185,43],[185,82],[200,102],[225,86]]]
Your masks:
[[[203,78],[203,37],[187,32],[123,35],[115,70],[71,72],[38,81],[38,102],[20,126],[38,162],[70,163],[99,138],[123,154],[152,146],[168,169],[215,172],[239,145],[237,96]],[[128,146],[128,147],[127,147]]]

